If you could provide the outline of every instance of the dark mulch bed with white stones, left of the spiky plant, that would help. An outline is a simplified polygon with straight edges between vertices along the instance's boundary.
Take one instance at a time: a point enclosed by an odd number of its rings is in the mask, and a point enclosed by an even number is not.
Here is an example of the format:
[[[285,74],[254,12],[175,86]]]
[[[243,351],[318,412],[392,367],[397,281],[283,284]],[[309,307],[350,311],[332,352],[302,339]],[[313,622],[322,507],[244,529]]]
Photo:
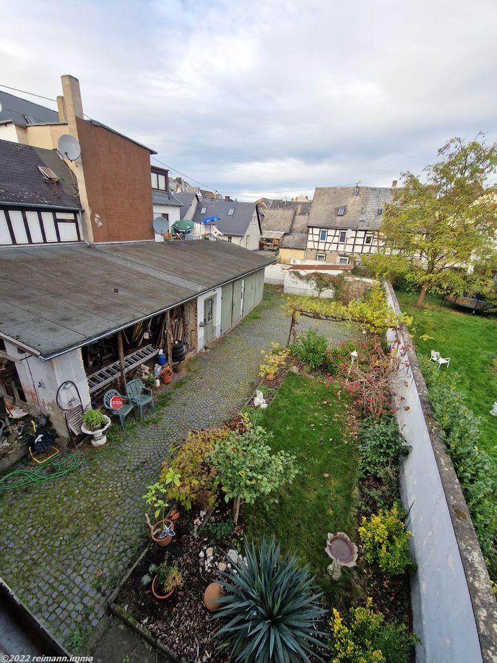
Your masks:
[[[216,510],[211,521],[220,521],[225,517],[225,512]],[[198,538],[195,538],[193,522],[184,514],[175,523],[175,531],[176,536],[166,548],[159,548],[150,542],[146,554],[119,591],[115,604],[124,608],[152,635],[188,662],[226,663],[228,656],[217,651],[217,641],[213,637],[221,624],[211,619],[211,613],[204,606],[206,587],[219,580],[220,575],[215,564],[210,570],[205,569],[205,555],[206,548],[213,546],[215,561],[226,561],[225,555],[233,545],[231,541],[215,541],[202,528]],[[240,536],[241,528],[235,530],[235,537]],[[183,586],[176,589],[170,599],[159,601],[153,596],[150,584],[142,585],[142,577],[148,573],[150,564],[161,564],[165,551],[170,564],[178,566],[182,573]],[[204,553],[203,558],[200,553]],[[153,574],[150,575],[153,577]]]

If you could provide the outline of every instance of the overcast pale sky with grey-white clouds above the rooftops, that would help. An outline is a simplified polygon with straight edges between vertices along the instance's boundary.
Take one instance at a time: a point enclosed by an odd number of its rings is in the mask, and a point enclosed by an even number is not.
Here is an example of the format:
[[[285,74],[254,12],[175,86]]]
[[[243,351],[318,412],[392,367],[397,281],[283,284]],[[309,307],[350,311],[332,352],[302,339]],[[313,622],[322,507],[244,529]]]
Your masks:
[[[389,186],[450,137],[497,138],[496,0],[0,0],[0,10],[1,84],[55,98],[70,73],[87,115],[240,200]]]

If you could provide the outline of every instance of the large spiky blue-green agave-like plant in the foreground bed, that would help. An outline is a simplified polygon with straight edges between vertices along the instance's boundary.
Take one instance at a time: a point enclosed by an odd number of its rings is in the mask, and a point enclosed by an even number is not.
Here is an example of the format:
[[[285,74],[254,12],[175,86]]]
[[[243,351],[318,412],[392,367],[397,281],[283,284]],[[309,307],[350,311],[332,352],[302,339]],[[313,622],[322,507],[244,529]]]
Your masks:
[[[232,562],[222,573],[224,595],[213,619],[227,623],[215,634],[220,648],[231,651],[236,662],[310,663],[312,646],[322,646],[315,622],[326,612],[319,606],[309,566],[297,557],[280,555],[275,539],[264,537],[260,550],[245,541],[246,564]]]

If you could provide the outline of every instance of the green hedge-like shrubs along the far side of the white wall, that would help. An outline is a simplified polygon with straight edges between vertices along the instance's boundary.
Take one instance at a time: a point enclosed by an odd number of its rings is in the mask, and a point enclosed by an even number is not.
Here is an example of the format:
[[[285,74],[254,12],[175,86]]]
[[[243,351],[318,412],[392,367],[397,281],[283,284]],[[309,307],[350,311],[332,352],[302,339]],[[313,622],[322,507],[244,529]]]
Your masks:
[[[465,405],[459,376],[442,372],[422,359],[433,414],[454,463],[462,493],[492,579],[497,578],[497,479],[495,465],[478,448],[480,419]]]

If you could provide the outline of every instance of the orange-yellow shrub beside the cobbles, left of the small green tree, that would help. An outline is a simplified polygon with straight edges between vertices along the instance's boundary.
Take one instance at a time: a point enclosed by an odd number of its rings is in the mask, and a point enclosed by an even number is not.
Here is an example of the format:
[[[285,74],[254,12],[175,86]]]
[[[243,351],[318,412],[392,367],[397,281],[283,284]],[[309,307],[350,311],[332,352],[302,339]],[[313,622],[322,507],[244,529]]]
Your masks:
[[[215,470],[206,458],[214,450],[215,441],[229,435],[224,428],[192,431],[186,436],[184,445],[174,459],[162,465],[161,481],[170,469],[179,474],[179,483],[170,487],[168,497],[177,501],[186,510],[193,504],[211,508],[216,501]]]

